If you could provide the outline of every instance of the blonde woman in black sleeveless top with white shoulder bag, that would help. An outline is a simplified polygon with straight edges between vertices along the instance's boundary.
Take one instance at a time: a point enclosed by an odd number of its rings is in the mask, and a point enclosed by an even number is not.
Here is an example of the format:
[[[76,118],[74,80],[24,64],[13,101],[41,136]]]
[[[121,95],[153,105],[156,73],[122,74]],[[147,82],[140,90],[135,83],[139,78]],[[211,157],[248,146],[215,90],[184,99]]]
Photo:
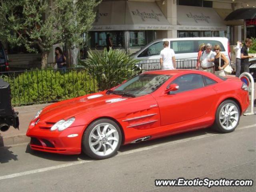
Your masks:
[[[226,76],[224,68],[229,64],[228,59],[224,54],[220,52],[221,49],[219,45],[214,45],[213,49],[216,52],[214,57],[214,74],[219,76]]]

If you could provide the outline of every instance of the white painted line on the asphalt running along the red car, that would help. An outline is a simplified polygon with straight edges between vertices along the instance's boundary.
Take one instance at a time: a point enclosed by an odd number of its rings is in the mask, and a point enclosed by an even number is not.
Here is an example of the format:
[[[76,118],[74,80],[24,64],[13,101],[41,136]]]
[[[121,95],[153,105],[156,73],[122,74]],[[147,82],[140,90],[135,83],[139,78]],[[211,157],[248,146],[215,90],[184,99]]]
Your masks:
[[[240,127],[240,128],[238,128],[237,131],[243,130],[243,129],[248,129],[248,128],[256,128],[256,124]],[[198,140],[198,139],[202,139],[202,138],[206,138],[206,137],[211,137],[211,136],[215,136],[215,135],[218,135],[218,134],[209,133],[207,135],[196,136],[194,138],[181,139],[181,140],[177,140],[177,141],[170,141],[170,142],[166,142],[166,143],[154,144],[153,146],[142,147],[142,148],[138,148],[138,149],[134,149],[134,150],[129,150],[126,152],[119,152],[118,155],[116,155],[116,156],[123,156],[123,155],[132,154],[132,153],[136,153],[136,152],[150,150],[150,149],[157,148],[160,146],[169,146],[169,145],[174,145],[174,144],[178,144],[178,143],[183,143],[183,142],[188,142],[188,141],[192,141],[192,140]],[[95,161],[95,160],[78,160],[76,162],[61,164],[61,165],[57,165],[57,166],[14,173],[14,174],[10,174],[10,175],[0,176],[0,180],[15,178],[15,177],[24,176],[24,175],[30,175],[30,174],[34,174],[34,173],[46,172],[46,171],[50,171],[50,170],[60,169],[60,168],[74,166],[74,165],[78,165],[78,164],[89,163],[89,162],[93,162],[93,161]]]

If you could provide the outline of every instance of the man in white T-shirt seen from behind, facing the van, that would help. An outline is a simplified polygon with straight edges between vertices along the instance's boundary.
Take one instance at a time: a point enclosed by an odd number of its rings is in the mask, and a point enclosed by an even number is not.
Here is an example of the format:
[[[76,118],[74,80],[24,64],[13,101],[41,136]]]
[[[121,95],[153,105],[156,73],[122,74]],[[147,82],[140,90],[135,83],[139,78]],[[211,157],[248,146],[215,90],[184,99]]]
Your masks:
[[[160,52],[160,66],[162,70],[176,69],[175,53],[169,48],[169,41],[164,41],[164,49]]]

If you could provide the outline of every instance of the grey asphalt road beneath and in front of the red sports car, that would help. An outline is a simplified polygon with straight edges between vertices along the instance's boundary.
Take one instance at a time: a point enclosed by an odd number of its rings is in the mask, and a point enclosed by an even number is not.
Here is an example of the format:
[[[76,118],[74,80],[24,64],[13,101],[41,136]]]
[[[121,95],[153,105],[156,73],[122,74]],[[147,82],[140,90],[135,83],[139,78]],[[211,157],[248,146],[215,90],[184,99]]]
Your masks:
[[[256,116],[232,133],[210,128],[122,146],[106,160],[0,148],[1,192],[255,192]],[[156,187],[155,179],[252,179],[251,187]]]

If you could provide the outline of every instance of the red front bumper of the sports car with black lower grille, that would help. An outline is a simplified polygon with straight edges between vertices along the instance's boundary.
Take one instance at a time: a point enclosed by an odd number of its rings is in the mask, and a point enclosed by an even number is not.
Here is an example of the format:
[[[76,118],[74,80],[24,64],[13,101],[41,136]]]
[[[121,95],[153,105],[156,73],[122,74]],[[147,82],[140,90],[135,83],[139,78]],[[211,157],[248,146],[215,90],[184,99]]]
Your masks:
[[[85,126],[69,127],[63,131],[50,131],[39,126],[28,128],[26,136],[30,137],[30,148],[33,150],[58,153],[80,154],[81,141]],[[70,135],[77,135],[70,137]],[[68,137],[69,136],[69,137]]]

